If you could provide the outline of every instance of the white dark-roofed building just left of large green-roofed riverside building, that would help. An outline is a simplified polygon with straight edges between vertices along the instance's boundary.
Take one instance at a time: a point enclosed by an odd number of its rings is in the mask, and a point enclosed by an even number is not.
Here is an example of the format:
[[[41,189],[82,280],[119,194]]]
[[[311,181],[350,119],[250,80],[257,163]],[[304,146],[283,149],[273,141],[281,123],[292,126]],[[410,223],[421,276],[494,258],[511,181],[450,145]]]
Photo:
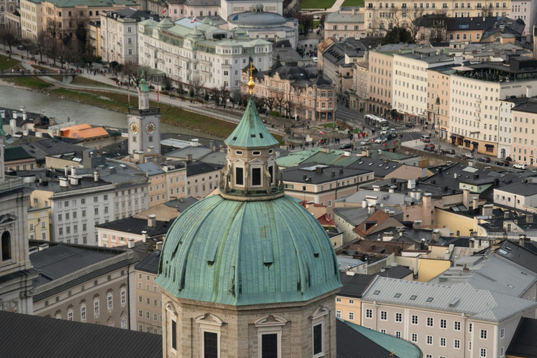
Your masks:
[[[158,15],[135,8],[101,13],[101,50],[103,62],[120,64],[138,61],[138,22],[155,19]]]

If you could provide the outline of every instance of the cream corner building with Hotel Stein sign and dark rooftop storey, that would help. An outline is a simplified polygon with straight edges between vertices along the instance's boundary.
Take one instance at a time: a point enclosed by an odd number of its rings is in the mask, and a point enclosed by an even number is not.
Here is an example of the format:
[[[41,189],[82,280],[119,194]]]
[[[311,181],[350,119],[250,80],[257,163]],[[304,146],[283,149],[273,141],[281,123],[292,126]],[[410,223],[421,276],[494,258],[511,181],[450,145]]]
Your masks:
[[[508,127],[505,121],[500,121],[500,100],[511,96],[527,95],[528,86],[537,85],[537,71],[531,66],[534,66],[533,59],[518,57],[510,59],[508,65],[476,64],[465,66],[464,71],[450,71],[450,139],[452,143],[464,145],[464,148],[488,155],[502,157],[506,154],[498,151],[499,138],[502,137],[503,145],[508,144],[508,141],[504,139],[509,139],[500,131],[501,127]],[[529,144],[531,139],[526,138],[524,125],[517,125],[518,135],[515,135],[514,127],[513,118],[513,145],[511,147],[517,148],[517,151],[520,148],[522,155],[524,145],[531,145]],[[531,131],[531,129],[528,130]],[[524,144],[524,140],[527,143]],[[527,160],[529,160],[528,153]],[[523,160],[522,156],[521,160]]]

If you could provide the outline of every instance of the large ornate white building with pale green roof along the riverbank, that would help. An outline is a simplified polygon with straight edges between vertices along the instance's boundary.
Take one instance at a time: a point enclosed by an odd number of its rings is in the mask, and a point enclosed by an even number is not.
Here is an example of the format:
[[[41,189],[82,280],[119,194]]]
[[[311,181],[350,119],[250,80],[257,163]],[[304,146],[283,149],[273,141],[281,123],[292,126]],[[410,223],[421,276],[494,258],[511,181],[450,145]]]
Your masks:
[[[138,62],[166,73],[180,83],[199,81],[202,87],[240,90],[241,70],[248,59],[258,71],[272,64],[272,44],[250,39],[243,29],[220,29],[209,18],[138,23]]]

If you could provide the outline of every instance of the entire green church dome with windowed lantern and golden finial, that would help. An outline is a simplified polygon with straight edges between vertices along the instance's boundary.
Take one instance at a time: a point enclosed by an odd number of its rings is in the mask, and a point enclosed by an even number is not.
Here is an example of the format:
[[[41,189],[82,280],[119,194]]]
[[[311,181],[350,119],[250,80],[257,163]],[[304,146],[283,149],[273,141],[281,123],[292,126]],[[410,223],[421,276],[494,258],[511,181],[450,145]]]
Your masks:
[[[326,231],[285,195],[275,163],[278,141],[264,126],[252,95],[225,143],[220,193],[198,201],[173,222],[157,283],[180,299],[234,306],[308,301],[341,287]]]

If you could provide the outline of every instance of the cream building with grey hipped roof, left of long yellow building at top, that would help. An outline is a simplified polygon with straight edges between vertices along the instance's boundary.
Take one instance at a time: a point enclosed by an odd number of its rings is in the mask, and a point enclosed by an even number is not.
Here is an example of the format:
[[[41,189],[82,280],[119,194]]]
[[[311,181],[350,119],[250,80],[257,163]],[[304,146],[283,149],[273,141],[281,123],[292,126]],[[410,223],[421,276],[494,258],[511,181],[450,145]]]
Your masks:
[[[357,6],[343,6],[324,19],[324,38],[361,38],[366,36],[364,12]]]

